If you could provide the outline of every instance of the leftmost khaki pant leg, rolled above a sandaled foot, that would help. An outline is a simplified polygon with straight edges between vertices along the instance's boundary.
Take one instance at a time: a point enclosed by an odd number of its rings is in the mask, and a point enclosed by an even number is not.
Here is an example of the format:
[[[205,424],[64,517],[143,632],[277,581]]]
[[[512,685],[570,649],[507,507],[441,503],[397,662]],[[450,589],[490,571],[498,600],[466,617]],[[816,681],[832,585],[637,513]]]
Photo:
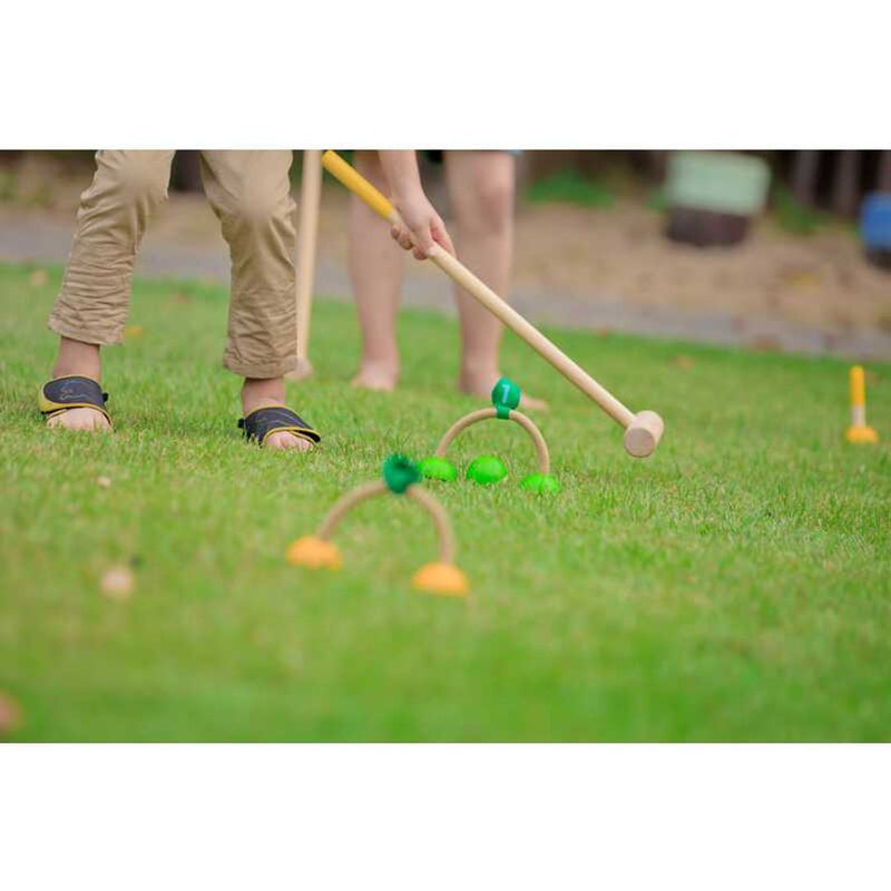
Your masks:
[[[153,210],[167,197],[173,156],[173,150],[96,153],[51,331],[84,343],[123,341],[136,252]]]

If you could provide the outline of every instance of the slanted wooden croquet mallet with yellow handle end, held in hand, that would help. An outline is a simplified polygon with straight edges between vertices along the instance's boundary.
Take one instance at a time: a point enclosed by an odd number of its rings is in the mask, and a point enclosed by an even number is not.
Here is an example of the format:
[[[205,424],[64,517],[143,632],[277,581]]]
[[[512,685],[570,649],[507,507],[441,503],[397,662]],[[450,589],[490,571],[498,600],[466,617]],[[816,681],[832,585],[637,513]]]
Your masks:
[[[388,223],[402,225],[402,219],[396,208],[340,155],[327,150],[322,155],[322,164],[332,176],[362,198],[379,216],[383,217]],[[625,450],[628,454],[634,458],[646,458],[653,453],[665,429],[662,418],[656,412],[642,411],[635,414],[630,409],[623,405],[606,388],[597,383],[590,374],[551,343],[535,325],[527,322],[448,251],[434,244],[429,256],[453,282],[478,300],[515,334],[522,337],[540,356],[550,362],[564,378],[574,383],[614,421],[620,424],[625,429]]]

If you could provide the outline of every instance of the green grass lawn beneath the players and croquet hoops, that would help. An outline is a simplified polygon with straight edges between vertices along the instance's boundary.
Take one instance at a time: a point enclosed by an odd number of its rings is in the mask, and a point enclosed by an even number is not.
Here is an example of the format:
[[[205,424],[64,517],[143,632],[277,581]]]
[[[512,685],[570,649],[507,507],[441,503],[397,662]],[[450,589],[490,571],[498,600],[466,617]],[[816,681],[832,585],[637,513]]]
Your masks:
[[[431,488],[468,600],[412,591],[432,528],[395,498],[352,515],[345,566],[284,560],[392,451],[431,453],[481,403],[452,389],[452,322],[401,319],[395,396],[349,386],[352,307],[314,309],[315,380],[290,401],[325,437],[264,453],[235,427],[224,288],[138,282],[141,336],[107,351],[112,435],[36,410],[60,273],[0,266],[0,691],[14,740],[756,741],[891,738],[891,366],[872,366],[879,447],[843,441],[846,364],[550,332],[667,430],[647,461],[512,335],[505,370],[564,483],[512,424],[459,439],[501,454],[495,488]],[[111,480],[97,484],[99,476]],[[133,561],[127,603],[99,593]]]

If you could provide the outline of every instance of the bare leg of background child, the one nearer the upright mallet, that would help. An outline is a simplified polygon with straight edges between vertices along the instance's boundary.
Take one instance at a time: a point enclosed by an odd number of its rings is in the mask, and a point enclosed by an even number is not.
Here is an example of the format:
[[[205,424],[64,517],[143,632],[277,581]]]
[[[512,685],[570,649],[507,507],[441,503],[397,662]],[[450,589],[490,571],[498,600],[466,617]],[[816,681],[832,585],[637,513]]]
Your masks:
[[[356,151],[359,173],[386,192],[376,151]],[[399,380],[396,311],[402,284],[402,251],[364,202],[350,203],[350,277],[362,332],[362,360],[353,383],[392,390]]]

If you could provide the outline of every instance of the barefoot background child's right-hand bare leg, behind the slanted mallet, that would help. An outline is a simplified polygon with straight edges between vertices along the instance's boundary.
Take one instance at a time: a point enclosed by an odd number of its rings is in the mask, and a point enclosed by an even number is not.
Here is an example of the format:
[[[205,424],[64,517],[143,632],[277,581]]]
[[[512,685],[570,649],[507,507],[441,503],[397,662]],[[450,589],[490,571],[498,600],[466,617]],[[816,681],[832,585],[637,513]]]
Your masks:
[[[507,295],[513,255],[515,159],[506,151],[447,151],[446,175],[457,224],[458,254],[497,294]],[[501,376],[501,323],[462,288],[456,287],[461,325],[464,393],[488,396]],[[525,408],[544,408],[523,396]]]

